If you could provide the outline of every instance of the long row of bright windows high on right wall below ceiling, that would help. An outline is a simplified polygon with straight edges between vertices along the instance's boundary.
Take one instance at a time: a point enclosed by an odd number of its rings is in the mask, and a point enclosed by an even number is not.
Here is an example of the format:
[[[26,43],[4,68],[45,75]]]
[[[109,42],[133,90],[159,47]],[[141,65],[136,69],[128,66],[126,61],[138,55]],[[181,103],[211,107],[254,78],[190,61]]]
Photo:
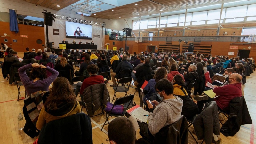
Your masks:
[[[256,4],[236,6],[230,8],[223,8],[220,23],[232,22],[250,22],[256,21]],[[220,18],[220,9],[208,10],[201,12],[187,13],[186,26],[204,25],[204,24],[218,24]],[[159,17],[143,19],[140,22],[133,21],[133,30],[158,28]],[[163,16],[160,19],[160,28],[184,26],[185,13]],[[139,25],[140,24],[140,25]]]

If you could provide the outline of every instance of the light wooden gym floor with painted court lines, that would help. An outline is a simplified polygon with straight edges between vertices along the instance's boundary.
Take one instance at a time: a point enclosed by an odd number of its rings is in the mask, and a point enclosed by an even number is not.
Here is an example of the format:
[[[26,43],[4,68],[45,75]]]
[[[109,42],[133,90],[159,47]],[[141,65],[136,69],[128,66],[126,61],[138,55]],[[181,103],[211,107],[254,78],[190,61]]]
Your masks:
[[[0,58],[3,61],[3,58]],[[112,80],[107,84],[110,98],[113,98],[114,90],[110,87]],[[242,125],[240,131],[233,137],[221,136],[222,144],[253,144],[254,143],[254,123],[256,120],[256,96],[253,94],[256,89],[256,72],[247,77],[247,83],[244,85],[245,100],[252,117],[253,124]],[[24,91],[24,87],[21,88]],[[134,86],[130,87],[129,93],[135,92]],[[2,71],[0,72],[0,144],[32,144],[36,138],[32,139],[26,135],[23,131],[18,130],[17,116],[21,112],[24,105],[23,100],[17,101],[17,86],[15,84],[9,84],[7,79],[3,79]],[[24,96],[24,93],[23,93]],[[118,97],[124,96],[124,93],[118,93]],[[77,98],[80,100],[80,98]],[[135,94],[134,101],[139,104],[138,92]],[[83,109],[83,111],[86,111]],[[112,119],[112,118],[110,118]],[[107,144],[108,138],[107,129],[108,125],[104,127],[103,131],[100,131],[101,126],[106,120],[105,115],[95,116],[91,119],[92,123],[92,136],[94,144]],[[193,127],[189,128],[193,130]],[[139,130],[136,132],[137,139],[141,136]],[[195,141],[188,135],[189,143],[195,143]],[[201,142],[200,140],[199,142]]]

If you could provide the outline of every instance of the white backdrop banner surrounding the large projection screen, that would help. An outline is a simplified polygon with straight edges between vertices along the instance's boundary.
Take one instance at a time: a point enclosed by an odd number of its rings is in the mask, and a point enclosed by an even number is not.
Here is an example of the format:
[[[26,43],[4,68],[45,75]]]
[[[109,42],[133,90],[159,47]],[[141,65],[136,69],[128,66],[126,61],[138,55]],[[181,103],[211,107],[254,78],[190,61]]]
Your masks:
[[[61,19],[55,19],[55,22],[53,22],[52,26],[48,26],[48,38],[49,42],[54,42],[54,47],[59,47],[59,43],[63,41],[65,38],[68,43],[72,43],[73,40],[76,41],[78,44],[80,40],[82,40],[83,43],[91,43],[94,42],[95,45],[97,45],[97,49],[101,49],[102,47],[102,26],[95,26],[92,25],[92,40],[88,39],[74,39],[74,38],[66,38],[66,20]],[[54,31],[53,31],[54,29]],[[59,31],[58,31],[59,30]],[[44,27],[44,33],[45,33],[45,41],[46,41],[46,26]],[[58,35],[59,33],[59,35]]]

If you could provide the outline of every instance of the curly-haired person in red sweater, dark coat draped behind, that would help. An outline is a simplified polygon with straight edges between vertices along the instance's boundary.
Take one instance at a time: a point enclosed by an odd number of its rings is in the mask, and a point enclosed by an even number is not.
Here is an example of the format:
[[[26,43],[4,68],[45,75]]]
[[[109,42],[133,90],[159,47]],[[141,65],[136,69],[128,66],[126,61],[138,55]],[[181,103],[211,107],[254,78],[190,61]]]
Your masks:
[[[83,100],[83,91],[86,89],[88,86],[94,85],[94,84],[103,84],[104,83],[104,78],[103,76],[97,75],[99,68],[95,64],[91,64],[87,67],[87,71],[89,72],[90,77],[86,78],[83,81],[83,84],[80,89],[80,96],[81,100]],[[78,82],[81,84],[81,82]],[[79,84],[77,84],[79,85]]]

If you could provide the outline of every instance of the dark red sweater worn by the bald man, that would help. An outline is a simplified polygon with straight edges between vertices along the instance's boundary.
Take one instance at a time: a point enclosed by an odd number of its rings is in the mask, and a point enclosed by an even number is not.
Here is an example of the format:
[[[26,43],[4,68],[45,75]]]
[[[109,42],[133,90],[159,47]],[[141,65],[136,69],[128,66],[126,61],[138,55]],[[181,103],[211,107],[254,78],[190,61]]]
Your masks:
[[[217,106],[225,110],[229,107],[229,103],[232,99],[242,96],[241,83],[216,87],[213,89],[213,92],[216,93],[216,95],[220,95],[214,99]]]

